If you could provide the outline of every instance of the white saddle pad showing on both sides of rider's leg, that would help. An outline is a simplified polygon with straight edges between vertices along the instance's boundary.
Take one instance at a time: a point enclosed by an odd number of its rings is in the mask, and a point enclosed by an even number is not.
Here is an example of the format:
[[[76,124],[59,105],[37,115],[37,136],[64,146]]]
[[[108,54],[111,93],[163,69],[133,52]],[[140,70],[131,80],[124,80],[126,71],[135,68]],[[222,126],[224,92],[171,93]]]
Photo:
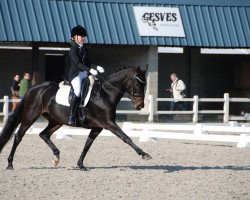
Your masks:
[[[81,100],[80,100],[79,107],[85,107],[88,104],[94,83],[95,83],[94,76],[89,75],[87,80],[84,81],[83,84],[81,85]],[[83,91],[85,91],[85,93],[83,93]],[[56,102],[58,104],[69,107],[73,92],[74,91],[73,91],[71,84],[68,81],[65,81],[65,80],[62,81],[59,84],[59,89],[56,93]]]

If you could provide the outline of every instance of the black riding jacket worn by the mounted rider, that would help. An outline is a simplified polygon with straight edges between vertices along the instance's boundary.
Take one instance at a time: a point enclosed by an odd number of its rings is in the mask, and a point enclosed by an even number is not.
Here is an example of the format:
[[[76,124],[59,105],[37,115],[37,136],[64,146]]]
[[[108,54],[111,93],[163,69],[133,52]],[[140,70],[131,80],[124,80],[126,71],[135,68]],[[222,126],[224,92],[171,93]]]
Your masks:
[[[86,71],[89,73],[91,62],[89,60],[88,51],[83,45],[80,47],[77,43],[73,42],[70,51],[70,69],[68,79],[71,82],[78,76],[80,71]]]

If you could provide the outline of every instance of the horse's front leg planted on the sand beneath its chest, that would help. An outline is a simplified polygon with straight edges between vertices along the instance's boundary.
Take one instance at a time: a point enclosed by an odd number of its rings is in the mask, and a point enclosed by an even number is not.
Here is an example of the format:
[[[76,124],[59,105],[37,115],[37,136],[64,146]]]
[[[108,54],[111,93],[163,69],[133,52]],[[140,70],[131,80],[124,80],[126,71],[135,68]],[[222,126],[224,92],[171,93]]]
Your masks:
[[[84,160],[89,148],[91,147],[92,143],[94,142],[94,140],[96,139],[96,137],[99,135],[99,133],[101,131],[102,131],[102,128],[95,128],[95,129],[92,129],[90,131],[89,136],[87,138],[87,141],[85,143],[85,146],[83,148],[82,154],[77,162],[77,165],[80,168],[80,170],[87,171],[87,169],[83,165],[83,160]]]

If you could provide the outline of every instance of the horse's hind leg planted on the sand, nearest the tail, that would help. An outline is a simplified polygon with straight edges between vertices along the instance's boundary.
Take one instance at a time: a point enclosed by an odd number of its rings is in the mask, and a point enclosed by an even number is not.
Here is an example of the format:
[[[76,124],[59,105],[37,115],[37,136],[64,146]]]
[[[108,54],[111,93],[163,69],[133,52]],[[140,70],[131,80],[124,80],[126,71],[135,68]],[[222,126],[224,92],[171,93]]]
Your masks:
[[[8,157],[8,167],[7,167],[7,169],[14,169],[13,168],[13,158],[14,158],[14,155],[15,155],[15,152],[16,152],[16,148],[20,144],[20,142],[22,141],[22,138],[23,138],[24,134],[26,133],[26,131],[37,120],[38,117],[39,116],[34,117],[33,120],[31,120],[32,118],[30,118],[29,121],[23,120],[23,122],[21,123],[21,126],[20,126],[19,130],[17,131],[17,133],[15,135],[14,143],[13,143],[10,155]]]

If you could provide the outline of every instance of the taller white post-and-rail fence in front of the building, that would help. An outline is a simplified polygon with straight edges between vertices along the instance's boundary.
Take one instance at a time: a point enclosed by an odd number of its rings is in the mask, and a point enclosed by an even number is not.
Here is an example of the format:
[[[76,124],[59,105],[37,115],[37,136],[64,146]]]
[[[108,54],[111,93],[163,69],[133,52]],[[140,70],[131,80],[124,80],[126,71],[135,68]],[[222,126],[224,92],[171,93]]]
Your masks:
[[[153,95],[149,95],[149,99],[145,99],[145,104],[148,104],[148,110],[146,111],[137,111],[137,110],[117,110],[118,114],[140,114],[140,115],[148,115],[148,121],[153,122],[154,116],[162,115],[162,114],[181,114],[181,115],[192,115],[193,122],[197,123],[199,119],[199,114],[220,114],[223,115],[223,122],[227,123],[229,120],[244,120],[243,116],[230,116],[229,115],[229,104],[230,102],[245,102],[250,103],[249,98],[229,98],[229,94],[225,93],[224,98],[199,98],[198,96],[194,96],[193,98],[185,98],[182,101],[185,102],[192,102],[193,107],[192,110],[189,111],[167,111],[167,110],[157,110],[154,106],[157,105],[157,102],[171,102],[175,99],[173,98],[154,98]],[[0,103],[3,103],[3,112],[0,112],[0,115],[4,116],[4,121],[7,120],[10,114],[10,103],[13,101],[19,100],[12,100],[8,96],[4,96],[3,99],[0,99]],[[128,98],[122,98],[122,102],[131,101]],[[199,103],[200,102],[221,102],[223,103],[223,107],[221,110],[200,110]]]

